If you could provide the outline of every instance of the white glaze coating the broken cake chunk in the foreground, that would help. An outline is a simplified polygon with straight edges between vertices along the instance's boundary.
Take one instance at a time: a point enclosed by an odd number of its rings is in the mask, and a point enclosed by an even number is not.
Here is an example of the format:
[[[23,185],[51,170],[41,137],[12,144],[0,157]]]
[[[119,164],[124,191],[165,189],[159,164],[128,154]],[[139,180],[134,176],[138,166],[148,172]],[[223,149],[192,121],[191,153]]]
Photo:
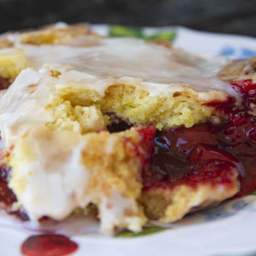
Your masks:
[[[86,135],[52,132],[40,126],[30,128],[30,133],[20,139],[13,150],[9,186],[32,222],[43,216],[63,220],[76,208],[99,202],[102,233],[112,233],[115,226],[123,223],[134,229],[143,224],[137,201],[125,196],[114,184],[106,182],[100,187],[90,187],[90,182],[97,180],[94,175],[98,167],[87,167],[83,163],[83,154],[90,154],[85,151]],[[114,151],[113,141],[110,138],[103,145],[110,144],[107,152],[110,155]],[[126,210],[134,214],[126,214]]]

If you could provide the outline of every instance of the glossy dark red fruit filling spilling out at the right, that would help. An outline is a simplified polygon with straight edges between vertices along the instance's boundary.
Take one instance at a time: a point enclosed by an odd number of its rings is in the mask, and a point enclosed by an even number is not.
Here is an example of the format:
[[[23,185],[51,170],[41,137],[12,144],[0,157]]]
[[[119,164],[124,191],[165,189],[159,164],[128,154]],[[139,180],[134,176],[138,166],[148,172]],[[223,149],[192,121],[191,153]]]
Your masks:
[[[234,170],[241,182],[237,196],[256,189],[256,84],[249,79],[231,85],[240,93],[242,106],[236,107],[231,97],[208,104],[223,117],[221,125],[198,124],[156,134],[156,153],[151,170],[144,172],[144,190],[204,181],[228,184]]]

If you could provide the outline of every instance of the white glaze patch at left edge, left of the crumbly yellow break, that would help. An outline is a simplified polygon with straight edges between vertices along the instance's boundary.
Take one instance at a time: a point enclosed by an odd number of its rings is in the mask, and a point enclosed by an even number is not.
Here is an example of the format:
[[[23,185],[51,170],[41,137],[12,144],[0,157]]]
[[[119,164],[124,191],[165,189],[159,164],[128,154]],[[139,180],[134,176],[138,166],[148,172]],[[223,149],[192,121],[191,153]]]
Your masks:
[[[44,71],[44,70],[43,70]],[[48,72],[33,69],[22,70],[0,100],[0,130],[6,147],[10,147],[22,135],[30,123],[46,123],[53,120],[44,106],[54,92],[57,78]]]

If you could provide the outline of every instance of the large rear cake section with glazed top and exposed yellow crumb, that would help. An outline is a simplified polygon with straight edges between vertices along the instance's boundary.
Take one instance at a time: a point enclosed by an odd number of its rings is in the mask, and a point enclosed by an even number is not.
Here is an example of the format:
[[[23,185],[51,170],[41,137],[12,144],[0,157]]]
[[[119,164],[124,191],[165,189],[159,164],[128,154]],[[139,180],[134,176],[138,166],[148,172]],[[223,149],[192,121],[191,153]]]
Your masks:
[[[25,53],[26,66],[55,74],[64,101],[96,106],[133,125],[165,129],[220,123],[206,103],[236,96],[217,77],[229,64],[221,57],[204,60],[141,39],[102,38],[81,24],[61,23],[5,37]],[[81,37],[90,44],[80,44]]]

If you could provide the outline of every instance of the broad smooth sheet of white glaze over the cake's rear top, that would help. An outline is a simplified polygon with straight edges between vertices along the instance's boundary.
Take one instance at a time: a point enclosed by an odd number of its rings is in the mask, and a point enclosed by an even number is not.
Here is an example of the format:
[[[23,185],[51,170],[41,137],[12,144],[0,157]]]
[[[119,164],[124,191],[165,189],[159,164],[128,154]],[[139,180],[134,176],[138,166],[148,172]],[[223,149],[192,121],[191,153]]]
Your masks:
[[[22,45],[34,68],[43,64],[62,68],[62,74],[80,81],[84,87],[101,95],[112,84],[135,84],[151,94],[165,92],[172,96],[188,86],[198,92],[224,90],[227,83],[216,78],[217,72],[228,63],[223,57],[204,60],[177,49],[149,44],[134,38],[99,39],[95,46],[71,47],[55,45]],[[80,74],[79,74],[79,73]],[[68,75],[66,75],[68,76]]]

